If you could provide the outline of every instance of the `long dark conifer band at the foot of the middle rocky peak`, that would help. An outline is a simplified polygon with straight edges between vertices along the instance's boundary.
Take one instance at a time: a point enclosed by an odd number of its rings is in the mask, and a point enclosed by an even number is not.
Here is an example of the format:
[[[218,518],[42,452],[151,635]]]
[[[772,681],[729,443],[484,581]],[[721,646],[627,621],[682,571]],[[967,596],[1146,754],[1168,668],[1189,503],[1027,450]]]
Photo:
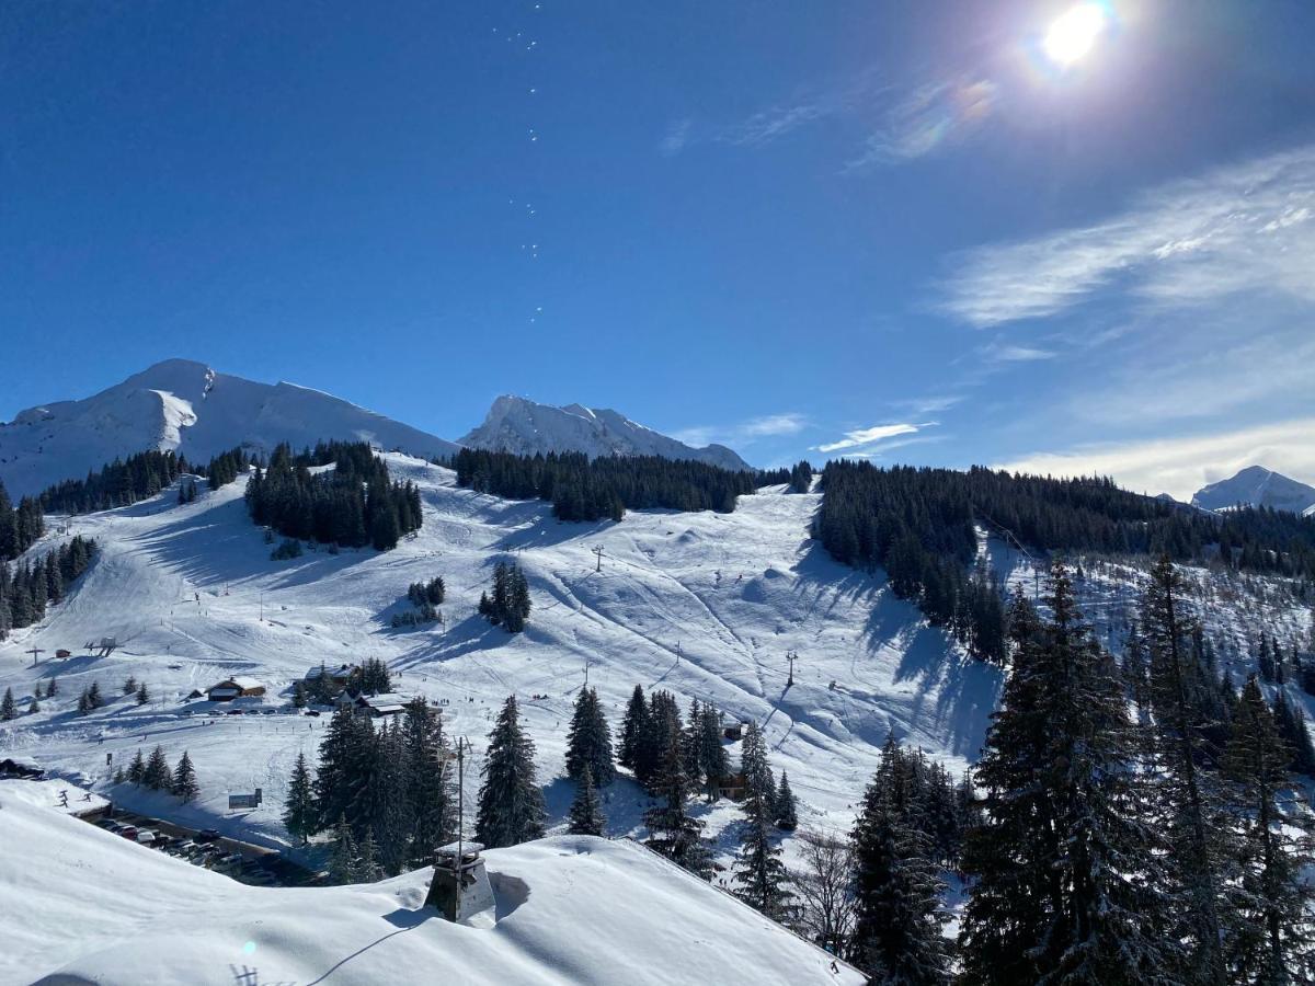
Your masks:
[[[619,521],[626,510],[715,510],[752,493],[752,472],[655,455],[589,459],[583,452],[514,455],[463,448],[451,465],[456,482],[509,500],[546,500],[562,521]]]

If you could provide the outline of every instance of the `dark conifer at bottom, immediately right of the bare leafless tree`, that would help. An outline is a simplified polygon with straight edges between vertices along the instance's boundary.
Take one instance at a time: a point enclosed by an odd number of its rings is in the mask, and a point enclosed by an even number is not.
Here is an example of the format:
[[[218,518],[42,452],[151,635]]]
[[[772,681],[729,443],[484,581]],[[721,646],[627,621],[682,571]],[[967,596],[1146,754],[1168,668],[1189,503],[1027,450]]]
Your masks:
[[[871,983],[942,986],[949,982],[940,933],[947,920],[944,885],[926,836],[897,803],[898,766],[888,743],[853,827],[856,920],[849,951]]]

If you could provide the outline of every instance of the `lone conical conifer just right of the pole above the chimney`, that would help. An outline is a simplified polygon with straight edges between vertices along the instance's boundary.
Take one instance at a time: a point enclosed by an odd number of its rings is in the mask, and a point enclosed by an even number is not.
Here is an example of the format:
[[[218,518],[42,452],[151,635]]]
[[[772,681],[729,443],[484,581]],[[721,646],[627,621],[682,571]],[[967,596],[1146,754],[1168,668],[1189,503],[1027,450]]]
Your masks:
[[[543,836],[543,791],[535,776],[534,740],[521,726],[515,695],[508,695],[489,734],[481,770],[475,837],[490,849]]]

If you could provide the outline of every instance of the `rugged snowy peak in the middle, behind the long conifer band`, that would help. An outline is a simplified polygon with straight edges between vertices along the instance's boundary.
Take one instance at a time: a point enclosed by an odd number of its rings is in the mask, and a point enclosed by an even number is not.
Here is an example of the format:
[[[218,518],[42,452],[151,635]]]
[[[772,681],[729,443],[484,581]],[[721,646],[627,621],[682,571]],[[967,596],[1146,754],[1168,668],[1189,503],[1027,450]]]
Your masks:
[[[751,468],[726,446],[694,448],[675,438],[618,414],[571,404],[554,408],[505,394],[493,401],[484,423],[460,439],[471,448],[489,448],[519,455],[537,452],[584,452],[601,455],[659,455],[693,459],[723,469]]]

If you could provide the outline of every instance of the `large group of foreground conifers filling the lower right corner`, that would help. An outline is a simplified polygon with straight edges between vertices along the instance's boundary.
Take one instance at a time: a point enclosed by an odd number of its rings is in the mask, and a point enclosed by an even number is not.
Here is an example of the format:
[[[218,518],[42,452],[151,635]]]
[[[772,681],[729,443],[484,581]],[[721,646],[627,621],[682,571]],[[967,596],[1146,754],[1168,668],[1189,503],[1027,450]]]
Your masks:
[[[951,860],[889,743],[851,839],[807,844],[821,848],[797,883],[805,926],[876,983],[1310,982],[1307,812],[1282,692],[1272,703],[1255,676],[1240,693],[1220,684],[1168,557],[1122,668],[1061,563],[1044,602],[1045,617],[1013,601],[999,710],[953,798],[957,954],[942,935]]]

